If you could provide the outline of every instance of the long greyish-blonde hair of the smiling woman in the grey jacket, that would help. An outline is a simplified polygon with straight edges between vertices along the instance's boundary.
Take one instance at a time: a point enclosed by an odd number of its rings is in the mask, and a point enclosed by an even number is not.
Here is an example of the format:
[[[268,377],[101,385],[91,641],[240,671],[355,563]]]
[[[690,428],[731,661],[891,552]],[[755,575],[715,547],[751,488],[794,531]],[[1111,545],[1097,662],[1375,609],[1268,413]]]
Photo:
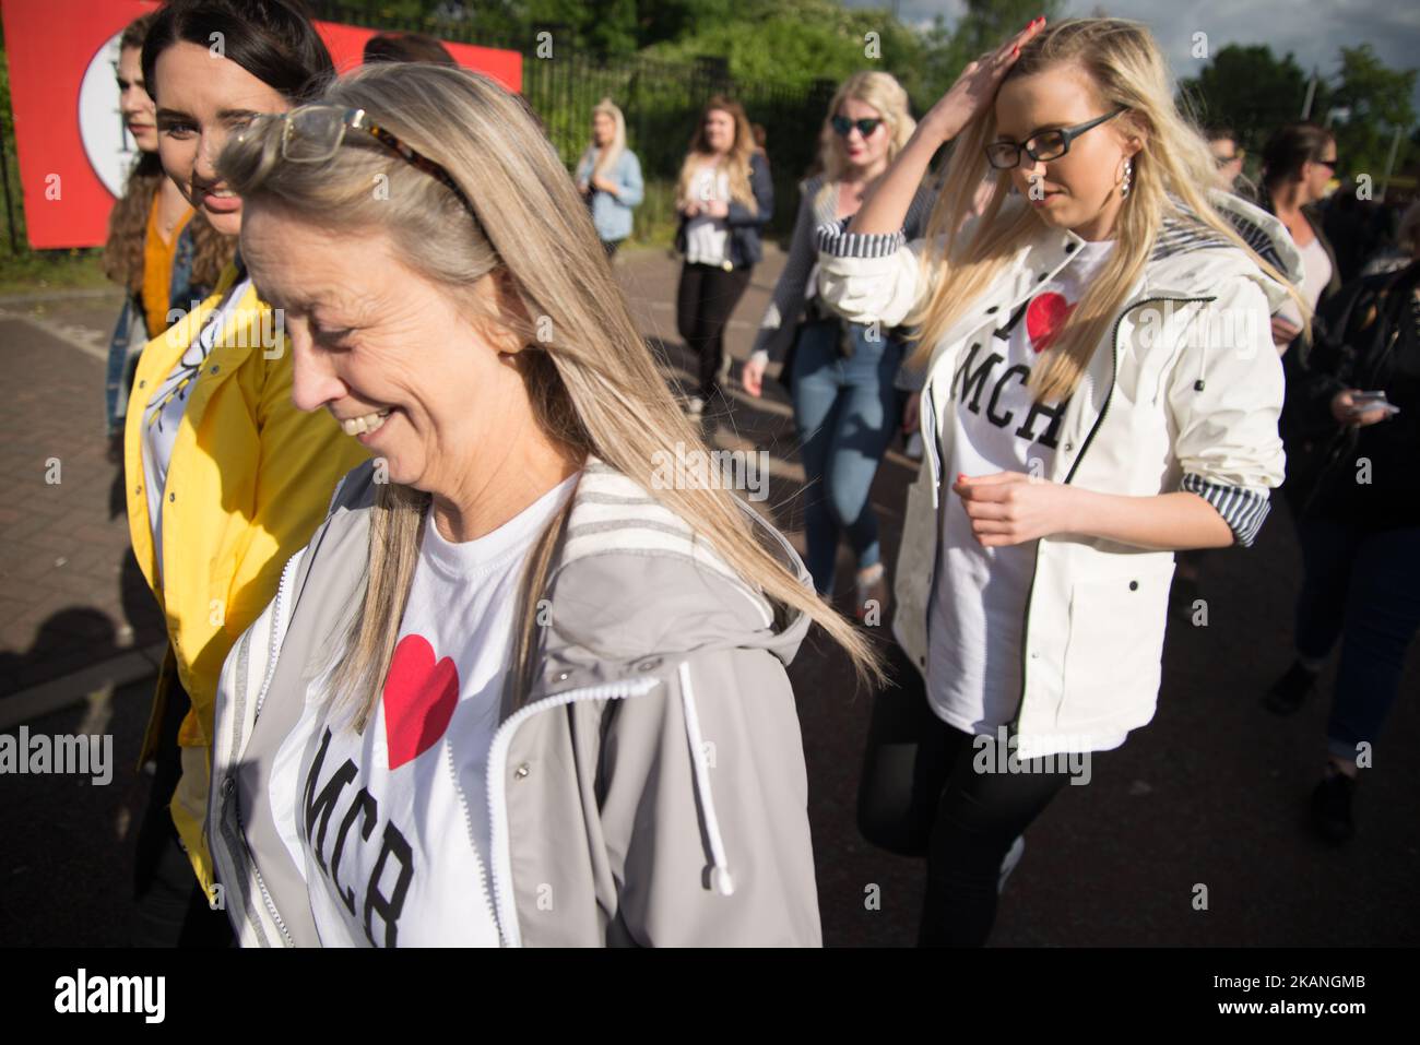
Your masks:
[[[233,136],[219,160],[233,189],[332,230],[383,231],[413,271],[470,310],[474,284],[506,274],[527,318],[496,321],[528,346],[517,358],[544,433],[639,483],[778,611],[799,611],[821,625],[848,650],[859,679],[880,677],[869,643],[757,540],[733,493],[707,488],[689,470],[674,484],[655,481],[655,461],[676,460],[679,469],[694,454],[677,454],[677,444],[703,449],[704,443],[656,369],[586,207],[577,206],[572,180],[523,102],[487,77],[427,64],[362,68],[328,88],[324,101],[365,109],[440,163],[473,203],[479,223],[447,186],[356,132],[325,163],[281,162],[280,121],[258,121]],[[388,192],[372,192],[376,185]],[[534,611],[569,504],[528,557],[514,639],[515,703],[525,700],[535,679],[542,629]],[[379,486],[365,592],[334,684],[356,708],[356,728],[375,707],[389,669],[427,507],[425,493]]]

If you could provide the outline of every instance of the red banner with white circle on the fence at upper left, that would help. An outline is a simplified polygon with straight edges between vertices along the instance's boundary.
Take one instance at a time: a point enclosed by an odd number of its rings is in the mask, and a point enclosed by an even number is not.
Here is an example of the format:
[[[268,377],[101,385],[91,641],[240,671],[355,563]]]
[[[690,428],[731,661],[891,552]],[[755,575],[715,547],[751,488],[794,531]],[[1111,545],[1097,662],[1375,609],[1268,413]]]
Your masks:
[[[118,37],[149,0],[0,0],[31,247],[97,247],[138,156],[118,112]],[[341,72],[379,30],[315,23]],[[523,89],[523,55],[444,43],[470,70]]]

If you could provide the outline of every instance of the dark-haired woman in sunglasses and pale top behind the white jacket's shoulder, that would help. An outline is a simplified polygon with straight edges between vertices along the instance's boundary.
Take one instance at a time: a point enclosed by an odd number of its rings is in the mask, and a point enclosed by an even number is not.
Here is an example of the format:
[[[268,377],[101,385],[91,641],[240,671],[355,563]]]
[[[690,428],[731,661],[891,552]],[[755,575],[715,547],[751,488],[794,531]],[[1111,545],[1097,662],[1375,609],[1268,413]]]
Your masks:
[[[1274,133],[1262,149],[1258,202],[1265,210],[1277,214],[1302,251],[1301,297],[1309,315],[1326,297],[1340,290],[1336,256],[1315,212],[1315,204],[1325,199],[1326,185],[1336,176],[1339,163],[1336,139],[1315,124],[1288,124]],[[1302,327],[1301,308],[1295,304],[1284,305],[1281,312],[1272,317],[1272,341],[1287,352],[1302,334]],[[1289,379],[1294,366],[1306,365],[1308,345],[1302,344],[1299,349],[1296,362],[1288,365]]]

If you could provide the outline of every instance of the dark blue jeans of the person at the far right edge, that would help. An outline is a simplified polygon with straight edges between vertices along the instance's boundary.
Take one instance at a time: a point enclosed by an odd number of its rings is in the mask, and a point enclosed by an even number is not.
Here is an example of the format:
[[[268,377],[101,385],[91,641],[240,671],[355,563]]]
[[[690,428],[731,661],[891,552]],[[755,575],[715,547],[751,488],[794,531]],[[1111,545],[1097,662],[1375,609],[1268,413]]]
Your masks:
[[[1420,629],[1420,528],[1367,531],[1304,518],[1296,531],[1305,567],[1296,652],[1322,660],[1340,639],[1326,745],[1356,761],[1358,743],[1375,748]]]

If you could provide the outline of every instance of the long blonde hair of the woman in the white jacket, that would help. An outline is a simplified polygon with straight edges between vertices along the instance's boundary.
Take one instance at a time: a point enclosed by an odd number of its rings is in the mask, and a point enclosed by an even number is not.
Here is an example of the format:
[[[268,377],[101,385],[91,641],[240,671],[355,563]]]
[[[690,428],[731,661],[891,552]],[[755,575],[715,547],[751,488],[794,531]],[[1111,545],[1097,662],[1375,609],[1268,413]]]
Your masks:
[[[1157,231],[1169,217],[1201,223],[1244,250],[1296,298],[1306,317],[1311,310],[1287,277],[1248,247],[1208,203],[1216,173],[1213,153],[1197,125],[1174,106],[1169,68],[1149,30],[1123,18],[1056,23],[1021,45],[1005,81],[1062,64],[1078,65],[1089,75],[1103,111],[1127,109],[1118,118],[1120,129],[1132,125],[1145,141],[1133,156],[1132,187],[1116,219],[1118,246],[1031,372],[1035,399],[1064,399],[1079,385],[1095,348],[1143,274]],[[1039,233],[1039,219],[1028,207],[1014,220],[997,220],[1011,183],[1005,172],[993,172],[987,163],[984,149],[994,139],[994,106],[987,106],[956,141],[946,185],[927,224],[924,271],[933,273],[933,287],[910,317],[922,328],[914,365],[926,362],[941,335],[971,310],[1018,248]],[[991,175],[998,175],[995,192],[981,220],[970,237],[958,237],[973,196]]]

